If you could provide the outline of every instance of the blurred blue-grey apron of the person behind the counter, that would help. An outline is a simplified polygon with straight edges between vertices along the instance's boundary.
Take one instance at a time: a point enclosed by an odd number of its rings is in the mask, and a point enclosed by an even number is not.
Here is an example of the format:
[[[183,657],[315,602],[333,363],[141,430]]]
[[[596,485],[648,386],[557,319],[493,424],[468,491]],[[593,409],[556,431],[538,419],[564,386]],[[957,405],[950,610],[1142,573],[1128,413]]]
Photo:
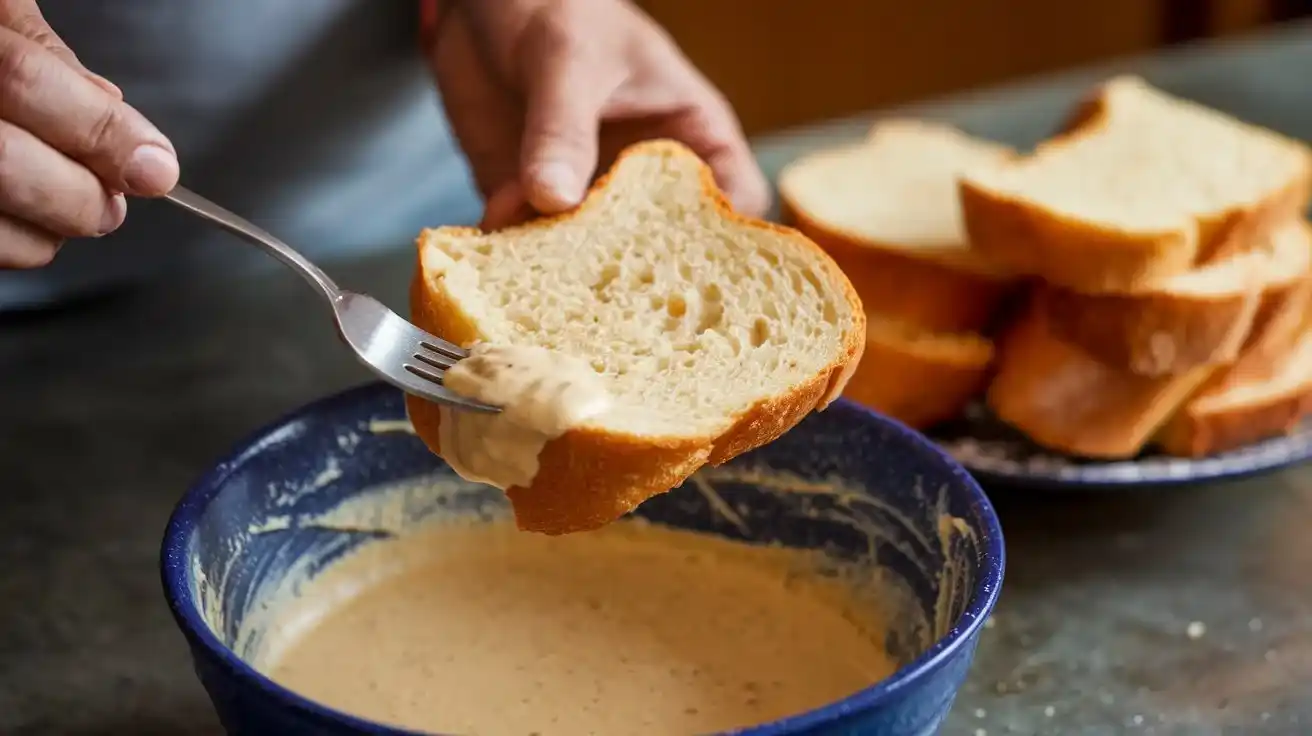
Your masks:
[[[416,0],[42,0],[83,63],[168,135],[190,189],[312,258],[408,248],[480,203],[417,46]],[[249,258],[133,201],[118,232],[0,272],[0,310]]]

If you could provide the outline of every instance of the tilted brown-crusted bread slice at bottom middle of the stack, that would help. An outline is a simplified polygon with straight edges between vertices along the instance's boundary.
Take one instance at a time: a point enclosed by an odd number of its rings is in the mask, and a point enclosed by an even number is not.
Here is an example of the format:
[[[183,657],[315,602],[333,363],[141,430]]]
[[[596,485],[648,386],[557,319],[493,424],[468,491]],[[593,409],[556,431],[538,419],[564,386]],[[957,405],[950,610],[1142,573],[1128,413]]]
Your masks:
[[[1148,378],[1109,367],[1056,337],[1043,302],[1036,293],[1000,341],[988,405],[1044,447],[1085,458],[1132,458],[1216,370]]]

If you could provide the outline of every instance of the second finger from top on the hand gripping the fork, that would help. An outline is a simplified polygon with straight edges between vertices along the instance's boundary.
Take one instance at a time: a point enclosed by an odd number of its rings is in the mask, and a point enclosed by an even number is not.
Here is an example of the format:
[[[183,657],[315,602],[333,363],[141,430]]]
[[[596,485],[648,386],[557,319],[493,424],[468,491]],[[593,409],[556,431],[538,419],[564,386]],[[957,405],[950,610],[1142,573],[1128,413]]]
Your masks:
[[[0,213],[67,237],[123,224],[127,203],[85,167],[35,135],[0,121]]]

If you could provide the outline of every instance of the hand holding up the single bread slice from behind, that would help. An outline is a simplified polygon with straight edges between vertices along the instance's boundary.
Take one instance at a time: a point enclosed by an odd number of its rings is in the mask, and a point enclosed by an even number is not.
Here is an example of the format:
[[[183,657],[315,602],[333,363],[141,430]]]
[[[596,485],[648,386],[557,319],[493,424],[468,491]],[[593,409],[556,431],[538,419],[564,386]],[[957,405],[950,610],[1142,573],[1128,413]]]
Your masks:
[[[693,148],[740,211],[769,205],[728,102],[627,0],[446,0],[428,52],[485,228],[573,207],[649,138]]]

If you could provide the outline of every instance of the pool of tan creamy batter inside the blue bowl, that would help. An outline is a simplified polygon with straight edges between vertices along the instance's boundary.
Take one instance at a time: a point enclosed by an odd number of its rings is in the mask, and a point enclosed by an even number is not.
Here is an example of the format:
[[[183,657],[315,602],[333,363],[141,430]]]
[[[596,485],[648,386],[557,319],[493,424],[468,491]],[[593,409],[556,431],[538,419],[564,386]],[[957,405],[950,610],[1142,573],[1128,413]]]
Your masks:
[[[865,596],[815,559],[619,522],[366,544],[277,613],[256,665],[333,708],[441,733],[690,735],[892,673]]]

